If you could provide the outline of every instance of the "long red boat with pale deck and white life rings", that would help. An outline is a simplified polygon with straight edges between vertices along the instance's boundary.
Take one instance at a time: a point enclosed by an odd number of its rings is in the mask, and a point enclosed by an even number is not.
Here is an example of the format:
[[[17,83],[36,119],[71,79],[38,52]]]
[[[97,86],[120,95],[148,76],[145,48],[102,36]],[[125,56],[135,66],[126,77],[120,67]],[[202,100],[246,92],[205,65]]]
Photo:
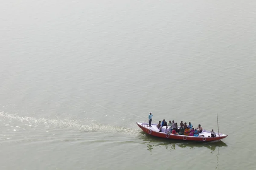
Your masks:
[[[147,134],[152,136],[157,136],[160,138],[166,138],[166,139],[178,139],[178,140],[184,140],[184,141],[202,141],[202,142],[209,142],[209,141],[217,141],[226,138],[228,135],[224,135],[222,133],[216,133],[215,137],[208,137],[211,136],[211,131],[203,130],[200,135],[204,136],[185,136],[185,135],[173,135],[169,133],[164,133],[164,129],[166,129],[166,126],[162,127],[163,132],[159,132],[159,129],[157,128],[157,124],[151,124],[151,127],[149,127],[148,123],[143,122],[136,122],[137,125]]]

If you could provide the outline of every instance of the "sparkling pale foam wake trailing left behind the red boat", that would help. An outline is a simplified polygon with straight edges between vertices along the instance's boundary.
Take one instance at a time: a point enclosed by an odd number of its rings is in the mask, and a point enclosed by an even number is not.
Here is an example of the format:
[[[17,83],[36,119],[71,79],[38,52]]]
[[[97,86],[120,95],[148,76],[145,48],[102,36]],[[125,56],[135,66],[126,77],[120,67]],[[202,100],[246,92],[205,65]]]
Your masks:
[[[81,125],[81,121],[70,119],[44,119],[44,118],[32,118],[32,117],[20,117],[13,114],[0,112],[1,119],[15,120],[21,123],[29,123],[29,125],[44,125],[45,127],[69,127],[76,128],[84,131],[97,131],[97,132],[111,132],[111,133],[124,133],[124,134],[140,134],[139,130],[128,129],[125,127],[102,125],[96,121],[89,120],[89,125]]]

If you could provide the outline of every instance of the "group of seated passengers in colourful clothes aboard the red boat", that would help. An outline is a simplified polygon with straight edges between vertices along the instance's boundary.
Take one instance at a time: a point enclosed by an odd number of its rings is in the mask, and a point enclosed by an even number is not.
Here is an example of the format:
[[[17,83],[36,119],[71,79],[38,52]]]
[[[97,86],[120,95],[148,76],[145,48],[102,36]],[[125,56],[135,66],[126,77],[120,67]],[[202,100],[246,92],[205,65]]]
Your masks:
[[[178,127],[177,122],[174,122],[174,120],[167,124],[165,119],[163,121],[159,121],[157,124],[157,128],[160,130],[159,132],[162,132],[162,127],[166,126],[166,129],[164,129],[164,133],[172,133],[174,135],[186,135],[186,136],[199,136],[200,133],[203,131],[203,127],[199,124],[197,128],[194,128],[191,122],[189,122],[189,125],[187,123],[183,123],[183,121],[180,121],[180,127]],[[169,127],[169,128],[168,128]],[[204,135],[202,135],[204,136]],[[215,137],[216,133],[211,131],[211,137]],[[210,136],[208,136],[210,137]]]

